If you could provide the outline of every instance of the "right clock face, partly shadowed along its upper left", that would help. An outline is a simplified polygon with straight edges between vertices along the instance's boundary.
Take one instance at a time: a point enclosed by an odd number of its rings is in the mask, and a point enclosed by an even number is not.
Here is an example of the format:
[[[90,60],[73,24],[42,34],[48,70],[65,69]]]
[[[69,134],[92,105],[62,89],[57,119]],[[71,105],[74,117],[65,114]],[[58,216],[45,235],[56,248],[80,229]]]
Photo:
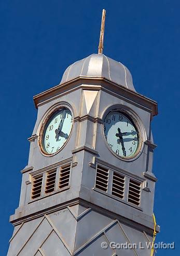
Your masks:
[[[110,111],[104,119],[104,135],[117,156],[132,158],[139,148],[139,132],[133,120],[119,110]]]

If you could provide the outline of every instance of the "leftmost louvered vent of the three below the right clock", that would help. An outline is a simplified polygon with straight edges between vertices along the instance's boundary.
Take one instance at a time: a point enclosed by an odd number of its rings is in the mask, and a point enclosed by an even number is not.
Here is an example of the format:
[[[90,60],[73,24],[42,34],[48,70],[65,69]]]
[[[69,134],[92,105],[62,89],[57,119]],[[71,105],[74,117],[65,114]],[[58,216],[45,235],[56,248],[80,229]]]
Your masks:
[[[107,192],[108,176],[108,169],[98,165],[96,171],[95,187]]]

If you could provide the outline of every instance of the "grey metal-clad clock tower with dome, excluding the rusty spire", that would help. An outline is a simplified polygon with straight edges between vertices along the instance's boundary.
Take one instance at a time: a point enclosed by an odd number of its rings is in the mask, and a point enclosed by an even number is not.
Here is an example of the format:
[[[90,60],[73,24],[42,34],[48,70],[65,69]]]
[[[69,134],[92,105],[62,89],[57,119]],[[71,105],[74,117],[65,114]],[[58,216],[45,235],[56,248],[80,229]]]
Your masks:
[[[150,255],[159,231],[151,132],[157,103],[137,93],[130,71],[101,50],[70,65],[34,103],[8,256]]]

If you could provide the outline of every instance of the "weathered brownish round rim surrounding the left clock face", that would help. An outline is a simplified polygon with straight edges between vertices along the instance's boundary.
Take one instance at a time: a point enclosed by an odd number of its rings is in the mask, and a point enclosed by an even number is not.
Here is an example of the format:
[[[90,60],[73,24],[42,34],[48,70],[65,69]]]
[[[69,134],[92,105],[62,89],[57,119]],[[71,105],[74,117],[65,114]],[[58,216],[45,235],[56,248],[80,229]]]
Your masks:
[[[70,135],[68,136],[66,142],[63,144],[63,146],[58,151],[56,151],[54,153],[48,153],[44,149],[44,146],[43,146],[43,133],[44,133],[44,129],[46,127],[47,122],[49,121],[49,119],[54,114],[54,112],[56,112],[59,109],[63,109],[63,108],[66,108],[66,109],[70,110],[71,114],[72,114],[72,117],[73,117],[73,123],[72,123],[71,131],[70,131]],[[38,145],[39,145],[41,154],[43,156],[46,156],[46,157],[52,157],[54,155],[57,155],[66,146],[66,144],[68,143],[68,140],[70,139],[71,134],[72,134],[73,125],[74,125],[74,113],[73,113],[72,108],[69,105],[67,105],[67,104],[60,104],[59,105],[58,104],[56,106],[53,106],[53,108],[49,109],[49,111],[45,114],[45,117],[44,117],[44,119],[43,119],[43,121],[42,121],[42,123],[40,125],[40,130],[39,130]]]

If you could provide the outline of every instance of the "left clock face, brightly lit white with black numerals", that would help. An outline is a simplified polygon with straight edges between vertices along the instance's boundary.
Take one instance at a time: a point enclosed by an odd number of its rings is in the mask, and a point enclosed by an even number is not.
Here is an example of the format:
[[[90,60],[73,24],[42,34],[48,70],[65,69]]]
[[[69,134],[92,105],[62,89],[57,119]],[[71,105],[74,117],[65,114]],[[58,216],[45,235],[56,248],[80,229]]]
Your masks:
[[[48,155],[58,152],[70,136],[72,125],[73,116],[70,109],[60,108],[53,112],[41,135],[43,151]]]

